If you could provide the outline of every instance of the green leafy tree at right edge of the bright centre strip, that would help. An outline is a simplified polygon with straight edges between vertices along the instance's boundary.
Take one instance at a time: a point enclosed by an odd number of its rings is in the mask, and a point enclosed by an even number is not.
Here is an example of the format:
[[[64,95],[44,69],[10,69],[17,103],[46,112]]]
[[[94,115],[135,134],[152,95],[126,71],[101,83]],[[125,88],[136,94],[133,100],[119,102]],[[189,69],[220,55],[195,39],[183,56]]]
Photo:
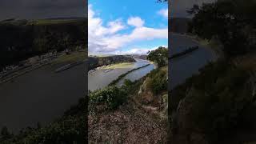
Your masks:
[[[168,63],[168,48],[160,46],[156,50],[149,51],[147,59],[156,62],[158,67],[166,66]]]

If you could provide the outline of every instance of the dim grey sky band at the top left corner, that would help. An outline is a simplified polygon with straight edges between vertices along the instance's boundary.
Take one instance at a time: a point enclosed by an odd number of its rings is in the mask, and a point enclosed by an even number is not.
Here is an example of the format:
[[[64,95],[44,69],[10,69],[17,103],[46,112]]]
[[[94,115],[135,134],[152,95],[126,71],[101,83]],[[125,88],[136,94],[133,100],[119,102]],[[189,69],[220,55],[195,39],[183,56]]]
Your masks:
[[[0,0],[0,20],[85,17],[86,0]]]

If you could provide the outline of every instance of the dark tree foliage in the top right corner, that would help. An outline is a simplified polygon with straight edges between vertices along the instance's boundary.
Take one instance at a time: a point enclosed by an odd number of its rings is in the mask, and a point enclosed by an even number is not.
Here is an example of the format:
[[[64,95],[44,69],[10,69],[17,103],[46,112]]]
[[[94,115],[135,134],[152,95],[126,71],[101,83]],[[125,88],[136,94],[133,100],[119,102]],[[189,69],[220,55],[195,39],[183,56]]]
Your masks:
[[[189,31],[206,39],[218,38],[227,57],[255,50],[256,2],[254,0],[218,0],[195,5]]]

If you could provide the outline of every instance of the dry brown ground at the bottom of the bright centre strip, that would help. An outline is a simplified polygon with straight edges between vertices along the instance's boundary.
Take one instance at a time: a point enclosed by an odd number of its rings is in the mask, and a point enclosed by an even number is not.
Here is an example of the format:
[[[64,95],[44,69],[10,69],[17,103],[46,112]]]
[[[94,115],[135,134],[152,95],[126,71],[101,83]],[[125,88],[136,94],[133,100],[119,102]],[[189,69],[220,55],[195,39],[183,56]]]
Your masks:
[[[90,143],[166,143],[166,122],[130,104],[118,110],[89,115]]]

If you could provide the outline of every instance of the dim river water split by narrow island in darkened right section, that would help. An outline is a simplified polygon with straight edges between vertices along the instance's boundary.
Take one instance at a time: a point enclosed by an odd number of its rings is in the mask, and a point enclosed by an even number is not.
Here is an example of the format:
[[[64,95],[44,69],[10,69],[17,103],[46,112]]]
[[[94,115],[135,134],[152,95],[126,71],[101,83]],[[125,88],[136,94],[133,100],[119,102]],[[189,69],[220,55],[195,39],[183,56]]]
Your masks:
[[[198,70],[208,62],[216,60],[213,50],[200,46],[193,39],[180,34],[171,34],[170,46],[169,56],[177,54],[190,46],[199,46],[199,49],[180,58],[169,60],[169,90],[182,84],[186,81],[186,78],[190,78],[193,74],[198,74]]]

